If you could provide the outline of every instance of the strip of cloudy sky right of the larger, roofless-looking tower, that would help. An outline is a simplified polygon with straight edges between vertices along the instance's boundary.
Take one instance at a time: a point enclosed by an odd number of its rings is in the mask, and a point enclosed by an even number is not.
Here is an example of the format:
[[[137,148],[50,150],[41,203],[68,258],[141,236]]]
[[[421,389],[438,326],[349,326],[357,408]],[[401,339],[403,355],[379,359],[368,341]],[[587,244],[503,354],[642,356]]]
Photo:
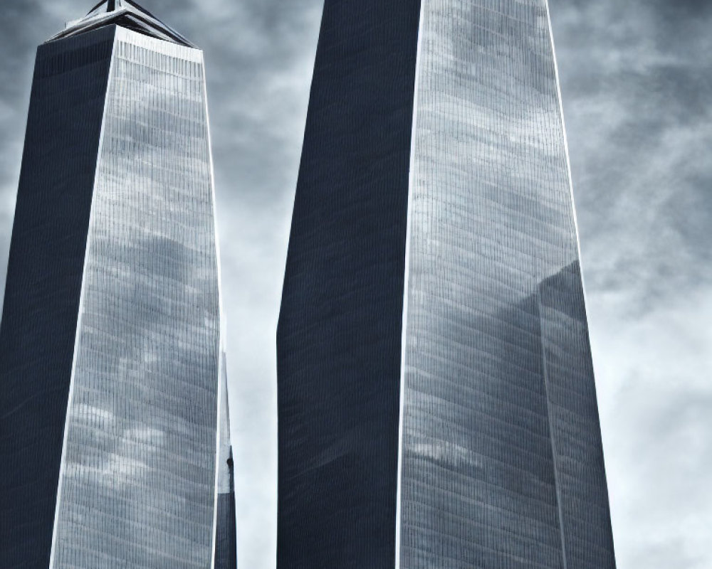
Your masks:
[[[711,7],[551,0],[619,568],[712,564]]]

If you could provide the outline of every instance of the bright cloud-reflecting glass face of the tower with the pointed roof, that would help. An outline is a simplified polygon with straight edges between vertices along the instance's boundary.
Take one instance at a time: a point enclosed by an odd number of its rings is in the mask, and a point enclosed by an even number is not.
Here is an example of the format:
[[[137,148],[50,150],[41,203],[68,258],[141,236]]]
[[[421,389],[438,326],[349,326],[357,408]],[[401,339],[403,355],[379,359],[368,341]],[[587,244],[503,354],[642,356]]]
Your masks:
[[[205,568],[219,293],[202,54],[116,42],[55,567]]]

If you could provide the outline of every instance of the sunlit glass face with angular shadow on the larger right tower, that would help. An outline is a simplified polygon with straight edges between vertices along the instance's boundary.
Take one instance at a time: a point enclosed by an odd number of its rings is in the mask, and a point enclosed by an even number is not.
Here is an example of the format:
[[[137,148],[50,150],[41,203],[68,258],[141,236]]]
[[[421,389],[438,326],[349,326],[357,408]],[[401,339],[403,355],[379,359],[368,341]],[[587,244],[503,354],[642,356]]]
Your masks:
[[[421,34],[400,566],[614,567],[545,1]]]

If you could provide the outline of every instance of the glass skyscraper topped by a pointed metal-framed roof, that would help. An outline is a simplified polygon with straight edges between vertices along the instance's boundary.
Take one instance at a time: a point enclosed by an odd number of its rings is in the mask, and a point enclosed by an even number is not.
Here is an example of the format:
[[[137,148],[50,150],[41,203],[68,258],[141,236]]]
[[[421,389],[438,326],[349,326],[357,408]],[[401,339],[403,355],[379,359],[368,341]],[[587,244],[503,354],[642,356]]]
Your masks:
[[[214,206],[201,50],[125,0],[38,48],[0,326],[3,569],[234,568]]]

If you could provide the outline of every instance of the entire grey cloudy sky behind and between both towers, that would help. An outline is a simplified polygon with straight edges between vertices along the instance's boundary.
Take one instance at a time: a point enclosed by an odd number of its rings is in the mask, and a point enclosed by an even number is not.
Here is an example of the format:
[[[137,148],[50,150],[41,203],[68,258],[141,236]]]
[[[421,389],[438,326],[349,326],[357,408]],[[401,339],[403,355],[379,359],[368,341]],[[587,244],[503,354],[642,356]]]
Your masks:
[[[0,280],[35,46],[91,0],[3,0]],[[323,0],[144,0],[204,49],[239,562],[274,567],[274,336]],[[712,2],[550,0],[619,569],[712,567]]]

